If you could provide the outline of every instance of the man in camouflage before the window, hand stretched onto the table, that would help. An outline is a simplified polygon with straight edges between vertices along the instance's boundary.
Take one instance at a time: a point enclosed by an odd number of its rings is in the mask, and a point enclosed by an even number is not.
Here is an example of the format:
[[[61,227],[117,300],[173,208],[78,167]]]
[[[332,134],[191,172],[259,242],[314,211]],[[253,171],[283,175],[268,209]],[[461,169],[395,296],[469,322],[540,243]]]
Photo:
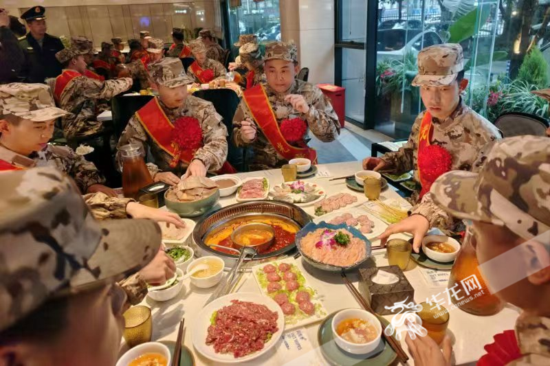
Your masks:
[[[381,158],[371,157],[363,161],[364,169],[397,175],[410,170],[414,172],[417,190],[410,197],[410,202],[415,205],[410,211],[411,216],[388,227],[380,236],[383,244],[392,233],[408,231],[414,234],[414,248],[418,251],[421,238],[430,227],[454,231],[459,224],[432,203],[429,193],[420,196],[418,156],[421,126],[426,113],[431,115],[427,125],[430,131],[427,133],[428,141],[433,146],[447,150],[451,159],[450,170],[477,172],[487,152],[500,139],[498,129],[466,106],[461,98],[461,91],[467,84],[467,80],[463,80],[463,61],[460,45],[434,45],[423,49],[418,54],[419,73],[412,84],[420,87],[420,95],[427,110],[415,119],[407,143],[397,152],[388,152]]]

